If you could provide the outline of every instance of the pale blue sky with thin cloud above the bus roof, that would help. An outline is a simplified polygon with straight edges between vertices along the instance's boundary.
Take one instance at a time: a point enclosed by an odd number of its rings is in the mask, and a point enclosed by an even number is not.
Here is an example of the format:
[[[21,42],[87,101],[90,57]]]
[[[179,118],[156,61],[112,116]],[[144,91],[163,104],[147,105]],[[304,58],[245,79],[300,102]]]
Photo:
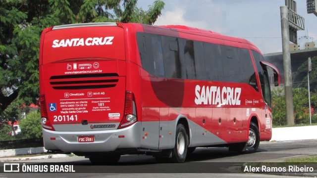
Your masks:
[[[262,53],[282,51],[280,6],[285,0],[163,0],[161,16],[154,25],[186,25],[222,35],[244,38]],[[295,0],[297,13],[305,18],[298,37],[317,40],[317,16],[307,13],[306,0]],[[138,0],[144,10],[154,0]]]

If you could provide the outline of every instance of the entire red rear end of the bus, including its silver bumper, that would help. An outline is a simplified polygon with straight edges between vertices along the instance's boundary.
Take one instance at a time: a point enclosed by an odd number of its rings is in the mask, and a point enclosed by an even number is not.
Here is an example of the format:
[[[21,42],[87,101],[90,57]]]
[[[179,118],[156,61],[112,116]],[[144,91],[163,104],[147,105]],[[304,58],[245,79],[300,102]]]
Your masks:
[[[90,157],[140,145],[135,96],[126,90],[125,48],[119,23],[43,31],[40,100],[47,150]]]

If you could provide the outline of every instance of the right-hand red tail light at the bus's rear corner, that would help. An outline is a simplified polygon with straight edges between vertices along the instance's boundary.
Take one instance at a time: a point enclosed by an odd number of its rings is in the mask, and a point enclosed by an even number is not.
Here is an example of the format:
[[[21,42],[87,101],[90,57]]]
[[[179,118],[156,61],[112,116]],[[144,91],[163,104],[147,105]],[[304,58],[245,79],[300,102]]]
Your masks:
[[[137,118],[137,110],[136,110],[134,94],[131,91],[126,91],[124,116],[118,129],[129,127],[137,121],[138,121],[138,118]]]

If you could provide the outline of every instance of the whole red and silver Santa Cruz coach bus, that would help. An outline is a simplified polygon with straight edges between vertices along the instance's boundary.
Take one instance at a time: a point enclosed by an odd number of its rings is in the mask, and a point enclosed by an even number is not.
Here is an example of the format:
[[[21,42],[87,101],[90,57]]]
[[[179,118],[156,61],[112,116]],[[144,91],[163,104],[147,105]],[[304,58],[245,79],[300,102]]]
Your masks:
[[[123,154],[184,162],[196,147],[255,152],[272,134],[268,68],[278,86],[278,70],[255,45],[186,26],[45,29],[45,148],[92,163]]]

